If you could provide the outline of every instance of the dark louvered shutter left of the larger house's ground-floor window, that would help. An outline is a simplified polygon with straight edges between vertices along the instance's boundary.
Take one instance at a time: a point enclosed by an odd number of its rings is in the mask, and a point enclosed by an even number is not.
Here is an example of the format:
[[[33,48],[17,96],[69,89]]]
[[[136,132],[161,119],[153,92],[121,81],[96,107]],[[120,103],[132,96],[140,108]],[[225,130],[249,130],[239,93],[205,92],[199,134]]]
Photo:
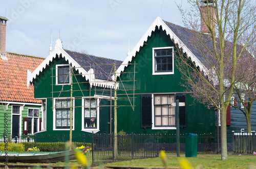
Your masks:
[[[141,94],[141,128],[152,128],[152,94]]]

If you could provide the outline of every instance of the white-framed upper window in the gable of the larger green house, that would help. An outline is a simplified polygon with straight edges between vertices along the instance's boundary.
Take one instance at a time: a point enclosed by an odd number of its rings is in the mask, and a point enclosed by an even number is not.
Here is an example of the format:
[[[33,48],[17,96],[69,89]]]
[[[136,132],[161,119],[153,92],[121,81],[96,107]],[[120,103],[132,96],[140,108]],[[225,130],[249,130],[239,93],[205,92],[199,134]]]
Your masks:
[[[153,74],[174,74],[174,47],[153,47]]]

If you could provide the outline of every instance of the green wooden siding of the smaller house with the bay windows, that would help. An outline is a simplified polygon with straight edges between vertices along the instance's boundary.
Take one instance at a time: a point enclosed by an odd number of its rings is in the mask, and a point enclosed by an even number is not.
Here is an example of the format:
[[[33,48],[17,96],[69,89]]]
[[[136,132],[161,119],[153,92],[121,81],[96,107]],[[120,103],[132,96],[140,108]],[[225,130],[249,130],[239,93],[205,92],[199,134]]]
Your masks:
[[[56,85],[56,65],[69,64],[62,57],[54,59],[45,68],[39,77],[34,80],[35,98],[45,98],[47,100],[47,131],[42,134],[69,134],[69,130],[53,130],[53,99],[54,98],[70,98],[71,85]],[[90,89],[89,81],[82,77],[78,71],[74,71],[73,78],[73,98],[75,102],[75,127],[72,134],[87,134],[82,130],[82,98],[84,96],[93,97],[97,95],[110,95],[110,89],[93,86]],[[63,88],[62,88],[63,87]],[[110,131],[110,107],[108,99],[100,99],[99,107],[99,130],[100,132]]]

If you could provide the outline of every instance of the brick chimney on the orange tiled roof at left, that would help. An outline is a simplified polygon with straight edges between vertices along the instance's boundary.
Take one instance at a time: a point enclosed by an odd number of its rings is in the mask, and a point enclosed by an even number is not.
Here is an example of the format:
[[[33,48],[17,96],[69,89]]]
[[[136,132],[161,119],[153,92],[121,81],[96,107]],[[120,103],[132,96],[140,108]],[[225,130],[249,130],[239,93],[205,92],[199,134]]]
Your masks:
[[[7,18],[0,16],[0,54],[5,55],[6,52],[6,22]]]

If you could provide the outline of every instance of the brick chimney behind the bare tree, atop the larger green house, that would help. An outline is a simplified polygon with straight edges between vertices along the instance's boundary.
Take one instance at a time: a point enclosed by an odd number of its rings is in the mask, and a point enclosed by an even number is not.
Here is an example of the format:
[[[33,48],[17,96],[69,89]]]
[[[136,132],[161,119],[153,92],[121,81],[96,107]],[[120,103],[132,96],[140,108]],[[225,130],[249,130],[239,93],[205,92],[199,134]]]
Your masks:
[[[216,32],[216,26],[215,26],[215,8],[212,5],[212,1],[211,0],[207,0],[208,1],[208,8],[209,8],[209,14],[210,14],[210,24],[211,27],[214,28],[214,33]],[[207,24],[208,24],[208,15],[207,15],[207,1],[202,1],[202,6],[201,6],[201,11],[202,11],[202,15],[205,18]],[[206,26],[206,23],[203,20],[203,17],[201,17],[201,32],[204,34],[210,34],[209,29]]]

